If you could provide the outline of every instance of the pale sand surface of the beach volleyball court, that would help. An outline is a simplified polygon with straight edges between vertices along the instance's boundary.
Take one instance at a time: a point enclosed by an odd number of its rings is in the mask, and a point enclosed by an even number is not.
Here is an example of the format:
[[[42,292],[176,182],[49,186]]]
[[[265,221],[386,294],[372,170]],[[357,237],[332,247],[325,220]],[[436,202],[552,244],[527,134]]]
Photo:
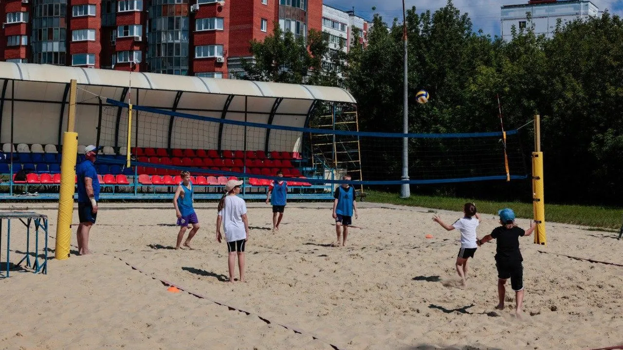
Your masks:
[[[457,278],[459,234],[432,222],[426,209],[363,203],[353,224],[364,229],[351,229],[347,247],[333,248],[327,204],[288,205],[276,233],[270,230],[269,206],[250,204],[247,283],[229,285],[221,281],[227,276],[227,250],[215,240],[216,204],[198,207],[203,227],[193,240],[197,250],[175,251],[162,248],[173,246],[177,233],[168,204],[103,203],[90,240],[94,255],[51,259],[47,275],[12,272],[0,280],[0,349],[331,349],[328,343],[343,349],[594,349],[623,344],[623,267],[553,254],[623,264],[623,240],[614,233],[548,224],[545,247],[532,244],[532,237],[521,239],[526,319],[520,321],[512,316],[510,285],[508,309],[492,316],[495,243],[470,259],[467,289],[442,284]],[[54,236],[56,211],[36,210],[50,215]],[[460,217],[440,214],[450,223]],[[528,220],[518,223],[528,226]],[[496,225],[493,215],[483,215],[478,237]],[[14,228],[12,250],[23,250],[17,232]],[[425,239],[426,234],[434,239]],[[50,239],[51,248],[54,244]],[[3,261],[4,245],[3,238]],[[16,253],[11,257],[17,262]],[[159,278],[251,315],[188,293],[169,293]]]

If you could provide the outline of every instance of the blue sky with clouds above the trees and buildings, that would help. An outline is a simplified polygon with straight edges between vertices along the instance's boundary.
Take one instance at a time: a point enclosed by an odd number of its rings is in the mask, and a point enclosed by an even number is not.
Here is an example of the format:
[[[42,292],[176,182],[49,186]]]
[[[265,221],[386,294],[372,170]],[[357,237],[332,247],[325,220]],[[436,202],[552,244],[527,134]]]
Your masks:
[[[599,7],[599,11],[608,9],[611,14],[623,16],[623,0],[591,1]],[[416,6],[418,12],[424,12],[427,9],[435,11],[445,6],[445,2],[446,0],[406,0],[405,4],[407,8]],[[527,4],[528,0],[454,0],[453,2],[462,13],[469,14],[474,31],[482,29],[486,34],[500,35],[500,6]],[[374,14],[372,7],[376,6],[376,12],[381,14],[388,24],[391,24],[394,17],[398,17],[402,22],[401,0],[323,0],[323,3],[345,11],[354,6],[355,14],[368,20]]]

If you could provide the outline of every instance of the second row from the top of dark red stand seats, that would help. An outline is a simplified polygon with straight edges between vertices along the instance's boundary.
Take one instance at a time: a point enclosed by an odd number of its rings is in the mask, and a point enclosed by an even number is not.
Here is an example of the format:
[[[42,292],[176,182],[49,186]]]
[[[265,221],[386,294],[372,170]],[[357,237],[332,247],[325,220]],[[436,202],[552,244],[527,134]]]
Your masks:
[[[229,166],[242,168],[294,168],[292,162],[288,159],[211,159],[211,158],[178,158],[178,157],[146,157],[141,156],[136,158],[136,161],[140,163],[153,163],[172,166],[192,166],[195,168],[203,168],[204,166]]]

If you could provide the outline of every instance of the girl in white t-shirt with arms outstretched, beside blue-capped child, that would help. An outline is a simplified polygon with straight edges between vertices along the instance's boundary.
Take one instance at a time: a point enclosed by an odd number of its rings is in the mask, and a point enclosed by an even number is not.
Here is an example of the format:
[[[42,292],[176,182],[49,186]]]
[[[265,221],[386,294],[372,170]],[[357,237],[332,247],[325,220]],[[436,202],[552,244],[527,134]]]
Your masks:
[[[473,258],[473,254],[478,248],[478,244],[476,243],[476,227],[480,225],[482,220],[480,220],[476,212],[476,205],[473,203],[465,203],[465,206],[463,206],[463,213],[465,214],[464,217],[457,220],[452,225],[444,224],[437,215],[433,216],[432,220],[439,223],[439,225],[446,230],[452,231],[458,229],[461,232],[461,248],[457,256],[456,268],[461,278],[461,283],[465,286],[465,279],[467,278],[467,259]]]

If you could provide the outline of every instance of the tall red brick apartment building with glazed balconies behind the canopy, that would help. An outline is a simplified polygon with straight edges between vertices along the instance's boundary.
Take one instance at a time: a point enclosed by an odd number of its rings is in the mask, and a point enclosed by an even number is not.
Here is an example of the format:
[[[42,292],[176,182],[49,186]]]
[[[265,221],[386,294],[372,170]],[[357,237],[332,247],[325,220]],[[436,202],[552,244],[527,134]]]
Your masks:
[[[227,78],[275,23],[321,30],[322,0],[3,0],[0,60]]]

